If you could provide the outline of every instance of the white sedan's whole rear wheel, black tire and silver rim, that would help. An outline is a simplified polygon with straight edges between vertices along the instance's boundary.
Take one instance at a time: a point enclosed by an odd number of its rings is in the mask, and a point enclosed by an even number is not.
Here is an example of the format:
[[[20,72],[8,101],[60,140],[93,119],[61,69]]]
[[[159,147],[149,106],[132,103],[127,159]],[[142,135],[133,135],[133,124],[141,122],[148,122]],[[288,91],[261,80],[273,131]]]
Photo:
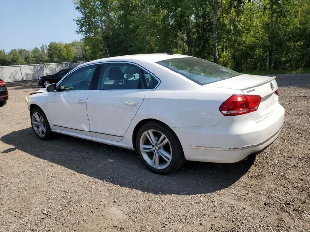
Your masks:
[[[157,174],[170,174],[185,162],[182,146],[175,133],[157,122],[148,122],[140,128],[136,147],[145,165]]]

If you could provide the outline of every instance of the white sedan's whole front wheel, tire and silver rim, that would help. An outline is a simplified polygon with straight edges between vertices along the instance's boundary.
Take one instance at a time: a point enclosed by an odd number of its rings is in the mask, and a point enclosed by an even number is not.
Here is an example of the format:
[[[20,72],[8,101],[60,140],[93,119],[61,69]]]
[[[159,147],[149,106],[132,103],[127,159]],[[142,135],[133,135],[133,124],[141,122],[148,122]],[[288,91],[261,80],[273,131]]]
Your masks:
[[[35,107],[31,110],[30,118],[34,134],[41,140],[49,139],[52,131],[44,112],[39,107]]]

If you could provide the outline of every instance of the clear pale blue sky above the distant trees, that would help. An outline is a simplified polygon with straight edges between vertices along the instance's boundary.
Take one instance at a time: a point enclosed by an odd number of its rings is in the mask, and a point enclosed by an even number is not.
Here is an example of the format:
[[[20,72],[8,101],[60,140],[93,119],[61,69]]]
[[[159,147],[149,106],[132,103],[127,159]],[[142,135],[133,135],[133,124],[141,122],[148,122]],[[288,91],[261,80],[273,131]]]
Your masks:
[[[73,0],[0,0],[0,50],[80,40]]]

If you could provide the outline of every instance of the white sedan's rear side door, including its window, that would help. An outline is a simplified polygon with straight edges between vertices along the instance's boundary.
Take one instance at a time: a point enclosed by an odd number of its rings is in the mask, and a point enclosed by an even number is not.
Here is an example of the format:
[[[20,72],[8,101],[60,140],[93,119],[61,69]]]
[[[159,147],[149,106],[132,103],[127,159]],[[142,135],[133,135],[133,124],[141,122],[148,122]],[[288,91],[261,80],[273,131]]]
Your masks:
[[[129,63],[104,64],[87,101],[92,136],[122,140],[144,94],[140,67]]]

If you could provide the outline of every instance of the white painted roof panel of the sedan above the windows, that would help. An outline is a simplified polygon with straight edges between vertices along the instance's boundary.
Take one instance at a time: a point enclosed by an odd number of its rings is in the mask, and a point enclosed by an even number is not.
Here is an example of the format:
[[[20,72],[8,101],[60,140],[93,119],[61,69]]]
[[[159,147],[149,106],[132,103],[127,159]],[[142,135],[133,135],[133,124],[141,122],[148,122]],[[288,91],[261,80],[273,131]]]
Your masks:
[[[149,62],[149,63],[155,63],[161,60],[182,58],[182,57],[190,57],[190,56],[181,55],[181,54],[170,55],[166,53],[136,54],[136,55],[126,55],[126,56],[97,59],[89,63],[98,63],[98,62],[106,62],[106,61],[144,61],[144,62]]]

